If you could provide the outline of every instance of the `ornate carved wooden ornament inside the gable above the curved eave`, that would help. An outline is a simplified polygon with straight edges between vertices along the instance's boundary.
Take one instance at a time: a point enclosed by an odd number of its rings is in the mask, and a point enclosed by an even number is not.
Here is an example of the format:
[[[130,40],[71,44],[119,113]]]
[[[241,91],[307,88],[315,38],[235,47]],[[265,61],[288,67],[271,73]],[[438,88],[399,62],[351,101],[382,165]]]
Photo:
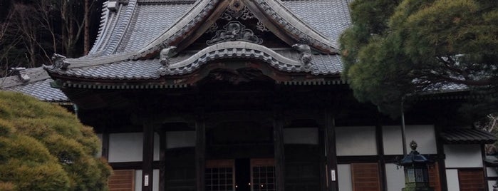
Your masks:
[[[239,21],[230,21],[228,24],[223,26],[222,30],[217,31],[213,38],[206,41],[206,43],[211,46],[215,43],[226,41],[247,41],[257,44],[263,43],[263,39],[254,35],[253,31],[246,29],[246,26],[241,24]]]

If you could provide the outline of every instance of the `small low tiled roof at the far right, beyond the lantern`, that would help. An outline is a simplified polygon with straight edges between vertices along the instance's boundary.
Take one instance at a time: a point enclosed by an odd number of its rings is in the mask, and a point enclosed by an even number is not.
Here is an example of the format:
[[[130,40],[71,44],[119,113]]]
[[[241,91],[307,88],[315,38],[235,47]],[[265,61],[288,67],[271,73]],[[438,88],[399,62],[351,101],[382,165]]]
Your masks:
[[[445,130],[440,136],[449,144],[492,144],[497,141],[491,133],[467,128]]]

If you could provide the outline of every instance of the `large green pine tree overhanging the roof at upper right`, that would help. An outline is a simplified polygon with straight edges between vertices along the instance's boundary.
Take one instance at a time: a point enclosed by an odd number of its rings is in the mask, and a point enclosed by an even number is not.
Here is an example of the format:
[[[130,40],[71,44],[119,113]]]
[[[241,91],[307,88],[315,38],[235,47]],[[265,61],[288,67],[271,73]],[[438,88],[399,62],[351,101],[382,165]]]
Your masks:
[[[445,86],[498,92],[497,1],[356,0],[351,9],[340,41],[358,100],[398,115],[403,98]]]

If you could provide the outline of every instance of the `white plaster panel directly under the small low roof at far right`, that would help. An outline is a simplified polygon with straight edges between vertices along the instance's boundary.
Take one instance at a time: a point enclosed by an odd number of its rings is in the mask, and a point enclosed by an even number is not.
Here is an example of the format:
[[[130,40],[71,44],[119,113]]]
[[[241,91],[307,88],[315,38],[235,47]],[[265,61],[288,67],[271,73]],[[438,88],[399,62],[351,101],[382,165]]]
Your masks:
[[[482,167],[479,145],[444,145],[446,167]]]

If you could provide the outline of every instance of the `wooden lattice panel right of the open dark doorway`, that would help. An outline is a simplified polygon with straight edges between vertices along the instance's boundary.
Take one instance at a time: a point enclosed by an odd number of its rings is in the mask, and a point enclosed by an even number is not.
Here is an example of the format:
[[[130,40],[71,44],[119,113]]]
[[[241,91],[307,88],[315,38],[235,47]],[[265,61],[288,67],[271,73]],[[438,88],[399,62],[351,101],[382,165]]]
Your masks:
[[[251,160],[251,187],[252,191],[274,191],[275,162],[273,159]]]

